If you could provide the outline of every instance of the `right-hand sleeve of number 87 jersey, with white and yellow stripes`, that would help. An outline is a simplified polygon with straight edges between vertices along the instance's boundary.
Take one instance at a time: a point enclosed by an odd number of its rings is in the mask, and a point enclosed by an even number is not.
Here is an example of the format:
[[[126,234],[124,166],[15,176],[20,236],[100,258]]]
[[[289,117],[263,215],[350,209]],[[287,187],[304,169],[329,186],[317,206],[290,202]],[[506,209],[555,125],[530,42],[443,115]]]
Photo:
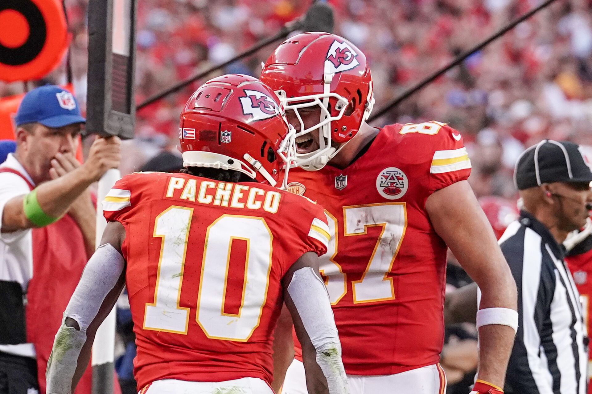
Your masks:
[[[471,175],[471,159],[462,142],[461,133],[442,123],[440,131],[433,135],[430,141],[430,194],[458,181],[464,181]]]

